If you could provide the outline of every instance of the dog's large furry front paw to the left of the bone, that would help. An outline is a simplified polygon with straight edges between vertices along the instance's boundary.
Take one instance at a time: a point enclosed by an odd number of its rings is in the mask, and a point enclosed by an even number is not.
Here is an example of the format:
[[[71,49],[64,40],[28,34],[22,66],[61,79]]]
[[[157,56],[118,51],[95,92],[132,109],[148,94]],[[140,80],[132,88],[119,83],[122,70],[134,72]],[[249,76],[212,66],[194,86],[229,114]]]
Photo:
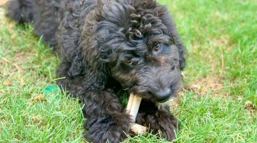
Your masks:
[[[129,128],[130,118],[127,114],[118,113],[107,117],[93,117],[85,122],[85,138],[94,143],[119,143],[127,135],[134,136]],[[126,134],[127,135],[126,135]]]

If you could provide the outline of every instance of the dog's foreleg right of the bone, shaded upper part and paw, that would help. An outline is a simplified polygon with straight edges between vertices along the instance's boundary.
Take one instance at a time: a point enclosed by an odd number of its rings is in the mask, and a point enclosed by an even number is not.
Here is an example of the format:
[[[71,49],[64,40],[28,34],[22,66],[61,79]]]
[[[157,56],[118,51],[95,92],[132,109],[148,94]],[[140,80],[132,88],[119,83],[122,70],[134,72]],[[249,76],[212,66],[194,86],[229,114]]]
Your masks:
[[[162,138],[172,141],[177,132],[178,119],[169,112],[169,107],[158,109],[153,103],[142,100],[136,121],[146,124],[152,134],[160,132]]]

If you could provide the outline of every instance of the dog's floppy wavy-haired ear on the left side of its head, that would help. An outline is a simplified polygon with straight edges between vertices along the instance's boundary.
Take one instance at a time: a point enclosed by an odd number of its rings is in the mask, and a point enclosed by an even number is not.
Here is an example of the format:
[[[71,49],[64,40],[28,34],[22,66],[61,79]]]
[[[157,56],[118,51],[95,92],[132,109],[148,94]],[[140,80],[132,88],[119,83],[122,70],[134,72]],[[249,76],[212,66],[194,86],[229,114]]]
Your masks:
[[[118,57],[114,50],[123,44],[123,27],[128,23],[129,11],[133,10],[116,1],[97,0],[97,7],[85,17],[80,33],[82,55],[88,66],[109,71],[107,65]]]

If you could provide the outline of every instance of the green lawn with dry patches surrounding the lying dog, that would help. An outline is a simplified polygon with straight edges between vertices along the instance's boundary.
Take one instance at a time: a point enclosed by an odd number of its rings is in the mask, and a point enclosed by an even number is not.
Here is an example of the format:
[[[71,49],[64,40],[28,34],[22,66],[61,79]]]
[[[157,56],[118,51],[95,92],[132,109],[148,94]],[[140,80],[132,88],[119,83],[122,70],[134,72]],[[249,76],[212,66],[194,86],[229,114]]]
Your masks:
[[[188,49],[185,87],[171,103],[181,122],[174,142],[257,142],[257,1],[158,1]],[[86,142],[77,100],[44,91],[59,57],[29,25],[2,9],[0,17],[0,142]],[[31,100],[39,94],[48,101]],[[144,134],[126,142],[166,141]]]

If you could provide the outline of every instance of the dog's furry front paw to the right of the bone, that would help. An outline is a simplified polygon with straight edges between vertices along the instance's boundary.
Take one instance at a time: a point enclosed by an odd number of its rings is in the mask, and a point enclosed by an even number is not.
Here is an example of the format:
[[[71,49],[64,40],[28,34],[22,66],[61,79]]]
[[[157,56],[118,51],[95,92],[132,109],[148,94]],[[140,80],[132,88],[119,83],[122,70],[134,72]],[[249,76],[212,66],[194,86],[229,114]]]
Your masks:
[[[146,125],[152,129],[152,134],[157,134],[160,131],[162,138],[172,141],[177,132],[178,119],[166,110],[158,110],[154,114],[146,116]]]

